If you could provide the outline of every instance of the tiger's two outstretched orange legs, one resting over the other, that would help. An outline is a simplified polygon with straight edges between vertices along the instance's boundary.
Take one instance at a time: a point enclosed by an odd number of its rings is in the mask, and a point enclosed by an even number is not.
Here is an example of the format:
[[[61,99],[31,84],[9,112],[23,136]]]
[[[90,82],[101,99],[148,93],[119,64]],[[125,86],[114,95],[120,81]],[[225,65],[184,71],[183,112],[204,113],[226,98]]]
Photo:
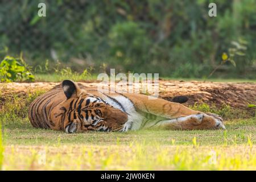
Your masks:
[[[148,96],[142,94],[127,95],[127,97],[133,101],[139,110],[167,118],[166,121],[170,121],[167,122],[167,125],[170,125],[170,127],[183,130],[217,129],[218,127],[225,129],[222,118],[216,114],[205,114],[182,104],[163,100],[162,98],[150,100]]]

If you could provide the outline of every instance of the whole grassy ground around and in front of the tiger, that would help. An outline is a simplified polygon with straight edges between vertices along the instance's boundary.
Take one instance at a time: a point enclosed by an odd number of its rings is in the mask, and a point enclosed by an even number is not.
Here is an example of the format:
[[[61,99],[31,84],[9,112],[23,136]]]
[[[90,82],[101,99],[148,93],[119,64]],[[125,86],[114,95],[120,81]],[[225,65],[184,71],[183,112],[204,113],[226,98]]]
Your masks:
[[[6,98],[0,110],[2,169],[256,169],[256,118],[229,119],[227,130],[139,130],[65,134],[35,129],[28,105],[42,92]],[[207,105],[193,106],[208,111]],[[229,109],[220,111],[228,116]]]

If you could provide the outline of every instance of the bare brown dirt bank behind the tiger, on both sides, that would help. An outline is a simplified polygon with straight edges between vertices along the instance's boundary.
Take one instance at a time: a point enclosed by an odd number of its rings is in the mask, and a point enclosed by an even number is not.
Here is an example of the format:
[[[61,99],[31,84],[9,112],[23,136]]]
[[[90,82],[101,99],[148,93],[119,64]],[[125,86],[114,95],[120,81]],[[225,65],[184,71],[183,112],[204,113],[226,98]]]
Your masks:
[[[12,93],[27,93],[34,90],[49,90],[59,82],[35,82],[35,83],[7,83],[0,84],[0,101],[3,97]],[[95,87],[99,82],[80,82],[86,87]],[[175,96],[188,96],[186,105],[195,103],[207,103],[221,107],[230,105],[237,109],[246,109],[248,104],[256,102],[255,83],[232,82],[199,82],[199,81],[159,81],[159,97],[172,100]]]

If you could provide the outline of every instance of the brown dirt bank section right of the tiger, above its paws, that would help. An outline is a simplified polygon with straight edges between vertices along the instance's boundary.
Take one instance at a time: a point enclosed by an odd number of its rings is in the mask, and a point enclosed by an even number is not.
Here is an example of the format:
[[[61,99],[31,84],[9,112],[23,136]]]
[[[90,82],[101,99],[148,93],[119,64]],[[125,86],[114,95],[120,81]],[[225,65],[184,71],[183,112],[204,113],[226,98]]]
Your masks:
[[[209,105],[230,105],[238,109],[247,109],[248,104],[256,101],[256,84],[222,82],[177,82],[164,83],[166,93],[160,93],[164,99],[185,95],[188,105],[207,103]]]

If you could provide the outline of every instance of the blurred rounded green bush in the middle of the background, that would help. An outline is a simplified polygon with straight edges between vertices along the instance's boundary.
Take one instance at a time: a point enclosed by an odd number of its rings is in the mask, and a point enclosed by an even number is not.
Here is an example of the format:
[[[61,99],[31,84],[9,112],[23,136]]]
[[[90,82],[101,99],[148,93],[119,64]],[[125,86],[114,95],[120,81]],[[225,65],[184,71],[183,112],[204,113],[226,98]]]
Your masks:
[[[117,23],[109,32],[110,56],[115,60],[115,64],[118,61],[126,69],[129,65],[141,66],[146,63],[150,45],[152,43],[146,31],[135,22]]]

